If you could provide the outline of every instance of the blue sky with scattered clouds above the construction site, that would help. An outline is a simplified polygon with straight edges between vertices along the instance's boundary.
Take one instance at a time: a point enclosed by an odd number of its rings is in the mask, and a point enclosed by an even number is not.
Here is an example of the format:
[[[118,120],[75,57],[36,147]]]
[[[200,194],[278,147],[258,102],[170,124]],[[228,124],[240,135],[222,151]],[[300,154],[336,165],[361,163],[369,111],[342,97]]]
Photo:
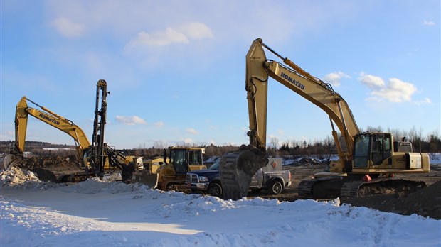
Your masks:
[[[105,141],[116,148],[246,144],[255,38],[331,83],[359,127],[439,133],[439,0],[2,0],[1,140],[14,140],[23,96],[91,139],[105,79]],[[268,143],[331,136],[317,106],[275,80],[269,88]],[[26,139],[73,144],[33,118]]]

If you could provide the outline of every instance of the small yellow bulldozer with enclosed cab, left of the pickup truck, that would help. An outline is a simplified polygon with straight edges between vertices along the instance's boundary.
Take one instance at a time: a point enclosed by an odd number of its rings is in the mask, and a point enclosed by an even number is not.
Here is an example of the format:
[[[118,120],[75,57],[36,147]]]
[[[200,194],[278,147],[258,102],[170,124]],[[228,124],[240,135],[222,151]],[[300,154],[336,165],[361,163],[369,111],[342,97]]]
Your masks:
[[[156,169],[158,175],[157,187],[169,190],[170,187],[185,185],[186,173],[192,170],[206,169],[203,165],[205,148],[169,147],[164,150],[164,163]],[[169,157],[169,162],[166,160]],[[134,173],[134,177],[137,172]]]

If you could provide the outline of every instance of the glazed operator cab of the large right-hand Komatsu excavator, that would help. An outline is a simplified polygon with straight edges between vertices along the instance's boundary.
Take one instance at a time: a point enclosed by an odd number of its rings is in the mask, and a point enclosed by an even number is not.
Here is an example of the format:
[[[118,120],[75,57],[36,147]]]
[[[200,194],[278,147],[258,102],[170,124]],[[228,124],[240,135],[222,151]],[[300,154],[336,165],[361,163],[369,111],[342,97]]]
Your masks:
[[[381,165],[392,156],[390,133],[362,133],[354,138],[354,168]]]

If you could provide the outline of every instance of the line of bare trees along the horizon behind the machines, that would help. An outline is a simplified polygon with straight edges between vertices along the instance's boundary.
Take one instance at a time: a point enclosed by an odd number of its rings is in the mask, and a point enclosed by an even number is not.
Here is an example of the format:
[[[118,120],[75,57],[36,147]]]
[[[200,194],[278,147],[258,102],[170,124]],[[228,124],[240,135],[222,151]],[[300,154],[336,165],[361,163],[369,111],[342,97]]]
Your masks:
[[[420,153],[441,153],[441,138],[437,131],[432,131],[427,135],[423,135],[423,130],[420,128],[417,130],[415,127],[411,128],[410,131],[401,131],[398,129],[386,129],[383,130],[381,126],[371,127],[368,126],[366,130],[361,132],[388,132],[392,133],[395,141],[402,140],[410,141],[413,146],[414,152]],[[246,144],[246,143],[244,143]],[[157,156],[162,156],[164,149],[169,146],[193,146],[205,148],[206,158],[213,156],[221,156],[224,153],[228,153],[233,150],[238,150],[239,146],[234,145],[206,145],[206,144],[188,144],[188,143],[175,143],[174,145],[168,145],[161,141],[157,141],[150,148],[132,148],[132,149],[122,149],[118,150],[124,155],[136,155],[145,158],[153,158]],[[14,147],[14,141],[0,141],[0,153],[8,153]],[[59,150],[47,150],[45,148],[59,148]],[[75,155],[75,146],[68,146],[66,144],[52,144],[46,142],[38,141],[26,141],[26,151],[32,152],[34,155],[38,156],[70,156]],[[280,143],[280,141],[272,137],[267,143],[267,155],[277,156],[277,155],[332,155],[336,154],[336,146],[334,143],[334,138],[331,136],[326,136],[322,139],[314,140],[290,140]]]

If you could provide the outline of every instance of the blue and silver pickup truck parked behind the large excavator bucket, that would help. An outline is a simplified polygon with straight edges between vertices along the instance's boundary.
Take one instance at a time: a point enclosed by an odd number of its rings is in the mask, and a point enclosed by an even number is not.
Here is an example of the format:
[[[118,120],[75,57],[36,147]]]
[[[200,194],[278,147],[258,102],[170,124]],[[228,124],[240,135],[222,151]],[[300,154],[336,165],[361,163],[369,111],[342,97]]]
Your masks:
[[[280,194],[291,185],[291,172],[282,170],[281,158],[268,158],[269,162],[257,170],[250,183],[250,190],[269,190],[272,194]],[[222,183],[219,175],[219,160],[208,169],[193,170],[186,174],[186,187],[191,191],[207,192],[215,197],[222,197]]]

